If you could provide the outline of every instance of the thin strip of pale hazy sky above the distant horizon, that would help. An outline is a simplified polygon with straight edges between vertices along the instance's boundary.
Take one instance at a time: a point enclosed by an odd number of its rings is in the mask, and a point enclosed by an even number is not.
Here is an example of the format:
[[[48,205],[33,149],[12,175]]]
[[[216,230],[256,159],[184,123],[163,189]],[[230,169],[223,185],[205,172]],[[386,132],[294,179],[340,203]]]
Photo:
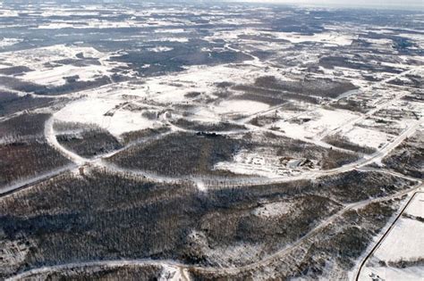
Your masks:
[[[256,3],[282,3],[282,4],[332,4],[332,5],[349,5],[349,6],[381,6],[388,8],[390,6],[410,8],[418,7],[424,10],[424,0],[238,0],[241,2]]]

